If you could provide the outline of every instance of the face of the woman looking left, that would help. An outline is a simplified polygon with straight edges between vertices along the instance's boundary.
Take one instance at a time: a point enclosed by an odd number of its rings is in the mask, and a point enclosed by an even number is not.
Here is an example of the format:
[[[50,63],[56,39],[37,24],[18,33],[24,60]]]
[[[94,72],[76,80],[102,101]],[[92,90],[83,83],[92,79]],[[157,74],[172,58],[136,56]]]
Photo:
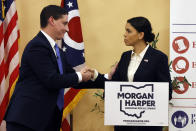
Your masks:
[[[129,23],[125,26],[124,42],[126,46],[134,46],[140,39],[140,33]]]

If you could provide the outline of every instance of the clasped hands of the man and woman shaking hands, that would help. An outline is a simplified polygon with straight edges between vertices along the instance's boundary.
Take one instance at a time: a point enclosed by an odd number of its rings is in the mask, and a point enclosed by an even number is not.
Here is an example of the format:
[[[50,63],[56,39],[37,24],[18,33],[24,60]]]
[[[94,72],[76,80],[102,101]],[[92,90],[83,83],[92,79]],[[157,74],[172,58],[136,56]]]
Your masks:
[[[94,79],[95,70],[85,66],[81,69],[80,73],[82,75],[82,81],[86,82],[88,80]]]

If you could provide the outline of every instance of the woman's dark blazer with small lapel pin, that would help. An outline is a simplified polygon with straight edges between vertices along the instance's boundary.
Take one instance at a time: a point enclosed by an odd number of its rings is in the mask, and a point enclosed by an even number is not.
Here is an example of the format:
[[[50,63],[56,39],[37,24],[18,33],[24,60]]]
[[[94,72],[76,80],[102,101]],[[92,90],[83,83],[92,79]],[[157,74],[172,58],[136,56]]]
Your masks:
[[[112,81],[128,81],[128,66],[131,60],[132,50],[124,52],[118,63]],[[106,81],[103,75],[99,74],[99,81]],[[134,82],[169,82],[169,99],[172,98],[171,77],[168,67],[167,56],[159,50],[149,46],[138,69],[134,75]],[[99,83],[104,87],[104,82]]]

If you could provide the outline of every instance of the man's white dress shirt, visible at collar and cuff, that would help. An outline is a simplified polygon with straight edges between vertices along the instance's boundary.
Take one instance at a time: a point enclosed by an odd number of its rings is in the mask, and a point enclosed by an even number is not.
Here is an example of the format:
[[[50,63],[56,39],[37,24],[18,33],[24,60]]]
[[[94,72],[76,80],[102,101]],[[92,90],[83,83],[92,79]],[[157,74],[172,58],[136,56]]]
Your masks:
[[[49,41],[53,51],[54,51],[54,54],[56,56],[56,50],[55,50],[55,44],[56,42],[46,33],[44,32],[43,30],[41,30],[41,32],[44,34],[44,36],[47,38],[47,40]],[[82,81],[82,74],[80,72],[76,72],[77,76],[78,76],[78,82],[81,82]]]

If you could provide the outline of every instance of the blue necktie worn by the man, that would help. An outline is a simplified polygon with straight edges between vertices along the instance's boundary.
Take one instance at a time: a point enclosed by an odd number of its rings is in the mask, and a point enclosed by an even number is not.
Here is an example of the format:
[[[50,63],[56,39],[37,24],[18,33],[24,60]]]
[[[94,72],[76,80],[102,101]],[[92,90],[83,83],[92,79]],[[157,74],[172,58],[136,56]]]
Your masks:
[[[59,47],[57,44],[55,44],[55,50],[56,50],[56,55],[57,55],[57,63],[59,67],[59,72],[62,75],[63,74],[63,66],[62,66],[62,61],[61,61],[61,56],[60,56],[60,51]],[[64,106],[64,88],[59,90],[58,98],[57,98],[57,106],[60,109],[60,111],[63,109]]]

